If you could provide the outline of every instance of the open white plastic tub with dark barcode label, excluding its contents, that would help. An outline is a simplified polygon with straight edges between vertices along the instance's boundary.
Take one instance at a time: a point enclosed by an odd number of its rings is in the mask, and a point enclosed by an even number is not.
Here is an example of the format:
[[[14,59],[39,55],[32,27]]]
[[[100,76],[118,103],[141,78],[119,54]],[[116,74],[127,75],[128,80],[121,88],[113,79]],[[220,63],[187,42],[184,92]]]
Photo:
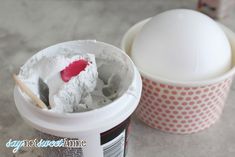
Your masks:
[[[22,95],[20,89],[15,87],[14,98],[20,115],[29,125],[39,131],[39,138],[44,137],[46,140],[69,138],[86,142],[83,148],[42,148],[44,155],[105,157],[114,152],[110,148],[116,144],[115,150],[119,151],[119,156],[125,156],[130,116],[139,103],[142,89],[139,72],[122,50],[97,41],[65,42],[46,48],[38,52],[36,56],[56,55],[56,49],[60,47],[82,48],[88,53],[118,56],[125,62],[132,77],[131,80],[122,78],[122,81],[127,83],[126,90],[112,103],[99,109],[82,113],[59,114],[41,110],[31,104]],[[29,61],[30,59],[27,62]]]

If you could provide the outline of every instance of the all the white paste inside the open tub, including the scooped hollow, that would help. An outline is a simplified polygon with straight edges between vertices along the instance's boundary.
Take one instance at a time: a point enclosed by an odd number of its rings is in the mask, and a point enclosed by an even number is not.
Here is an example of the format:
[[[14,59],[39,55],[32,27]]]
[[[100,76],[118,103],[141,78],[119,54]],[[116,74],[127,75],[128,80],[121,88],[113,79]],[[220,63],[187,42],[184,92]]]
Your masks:
[[[51,112],[84,112],[110,104],[125,93],[132,71],[122,54],[91,43],[59,44],[42,50],[21,67],[19,78],[39,98],[39,78],[48,85]],[[60,72],[80,59],[87,60],[89,65],[64,82]]]

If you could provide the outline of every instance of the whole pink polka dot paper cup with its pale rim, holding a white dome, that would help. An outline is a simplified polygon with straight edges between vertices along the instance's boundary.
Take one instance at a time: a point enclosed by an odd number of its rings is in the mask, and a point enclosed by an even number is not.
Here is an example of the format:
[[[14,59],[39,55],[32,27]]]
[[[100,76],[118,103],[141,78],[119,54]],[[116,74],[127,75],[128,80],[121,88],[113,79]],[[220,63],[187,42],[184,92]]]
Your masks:
[[[137,23],[124,35],[121,47],[127,54],[148,20]],[[190,134],[209,128],[220,118],[235,73],[235,34],[219,25],[231,44],[233,67],[216,78],[193,82],[167,80],[140,71],[143,90],[136,110],[140,120],[165,132]]]

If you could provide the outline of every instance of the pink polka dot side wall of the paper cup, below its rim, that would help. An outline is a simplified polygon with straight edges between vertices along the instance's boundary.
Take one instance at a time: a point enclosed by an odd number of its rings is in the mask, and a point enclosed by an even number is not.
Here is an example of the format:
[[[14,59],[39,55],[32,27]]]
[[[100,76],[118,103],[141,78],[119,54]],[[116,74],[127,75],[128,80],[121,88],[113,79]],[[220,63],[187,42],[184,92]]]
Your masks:
[[[210,127],[224,108],[232,78],[206,86],[180,87],[143,79],[137,116],[165,132],[189,134]]]

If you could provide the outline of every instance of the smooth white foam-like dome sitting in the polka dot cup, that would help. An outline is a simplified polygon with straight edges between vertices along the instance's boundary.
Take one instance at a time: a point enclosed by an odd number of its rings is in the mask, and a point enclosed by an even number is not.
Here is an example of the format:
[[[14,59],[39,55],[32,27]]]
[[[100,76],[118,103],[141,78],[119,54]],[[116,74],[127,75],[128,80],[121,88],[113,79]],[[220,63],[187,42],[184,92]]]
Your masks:
[[[136,66],[155,77],[178,81],[214,78],[231,68],[231,47],[208,16],[187,9],[156,15],[132,45]]]

